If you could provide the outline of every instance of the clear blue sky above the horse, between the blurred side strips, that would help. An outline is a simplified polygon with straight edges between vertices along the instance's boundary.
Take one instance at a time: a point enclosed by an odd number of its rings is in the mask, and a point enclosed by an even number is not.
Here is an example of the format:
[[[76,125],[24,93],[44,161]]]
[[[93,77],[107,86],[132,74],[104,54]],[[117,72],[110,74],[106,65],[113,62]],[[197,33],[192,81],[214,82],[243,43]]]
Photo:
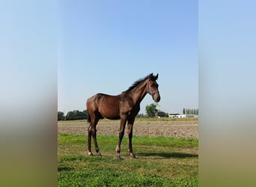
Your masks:
[[[159,73],[160,107],[198,108],[198,1],[59,1],[58,111]],[[153,103],[147,95],[140,113]]]

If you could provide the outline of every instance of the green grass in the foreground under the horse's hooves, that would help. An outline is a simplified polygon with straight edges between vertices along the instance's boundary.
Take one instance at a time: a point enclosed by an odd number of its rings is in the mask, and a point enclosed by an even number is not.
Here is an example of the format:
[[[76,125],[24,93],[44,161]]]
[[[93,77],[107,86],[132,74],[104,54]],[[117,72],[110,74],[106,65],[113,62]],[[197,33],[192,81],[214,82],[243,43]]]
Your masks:
[[[133,137],[130,159],[124,138],[117,159],[118,137],[97,137],[103,156],[87,156],[86,138],[58,135],[58,186],[198,186],[198,139]]]

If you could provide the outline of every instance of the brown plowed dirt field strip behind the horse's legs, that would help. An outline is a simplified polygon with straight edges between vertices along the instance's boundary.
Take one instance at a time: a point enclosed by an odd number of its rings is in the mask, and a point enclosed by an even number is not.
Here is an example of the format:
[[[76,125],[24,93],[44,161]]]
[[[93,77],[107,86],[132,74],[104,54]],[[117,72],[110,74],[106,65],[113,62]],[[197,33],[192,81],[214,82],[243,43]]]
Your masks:
[[[120,120],[100,120],[97,124],[97,135],[118,135],[119,126]],[[87,135],[87,130],[86,120],[58,121],[58,133]],[[136,119],[133,136],[198,138],[198,120]]]

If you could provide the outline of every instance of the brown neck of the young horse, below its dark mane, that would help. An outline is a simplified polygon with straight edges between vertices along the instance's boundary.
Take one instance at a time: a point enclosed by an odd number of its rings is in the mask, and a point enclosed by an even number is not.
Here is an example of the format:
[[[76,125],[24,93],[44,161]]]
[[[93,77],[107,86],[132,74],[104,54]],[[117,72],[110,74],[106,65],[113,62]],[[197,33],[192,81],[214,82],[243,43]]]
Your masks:
[[[139,103],[144,99],[144,96],[147,94],[147,82],[141,82],[140,85],[138,85],[136,88],[133,88],[132,91],[130,91],[130,96],[132,96],[132,99],[134,103]]]

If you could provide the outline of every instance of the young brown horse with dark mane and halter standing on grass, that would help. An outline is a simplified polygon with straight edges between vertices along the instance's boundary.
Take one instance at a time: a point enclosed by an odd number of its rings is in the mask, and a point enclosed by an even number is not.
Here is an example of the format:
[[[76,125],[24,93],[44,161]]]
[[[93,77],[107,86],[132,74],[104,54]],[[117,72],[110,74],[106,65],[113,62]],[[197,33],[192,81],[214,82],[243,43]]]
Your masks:
[[[94,138],[96,153],[98,156],[101,156],[97,144],[96,126],[100,119],[106,117],[110,120],[121,120],[118,146],[116,148],[118,158],[120,158],[121,141],[124,137],[124,128],[128,122],[128,151],[130,156],[135,157],[135,155],[132,153],[132,126],[135,120],[135,116],[140,110],[140,103],[147,93],[153,97],[155,102],[159,102],[160,94],[158,91],[158,84],[156,83],[157,78],[158,73],[156,76],[153,76],[153,73],[151,73],[144,79],[139,79],[138,81],[134,82],[134,84],[128,88],[127,91],[124,91],[117,96],[97,93],[87,100],[86,105],[88,111],[88,123],[90,123],[88,127],[89,156],[93,155],[91,152],[91,135]]]

